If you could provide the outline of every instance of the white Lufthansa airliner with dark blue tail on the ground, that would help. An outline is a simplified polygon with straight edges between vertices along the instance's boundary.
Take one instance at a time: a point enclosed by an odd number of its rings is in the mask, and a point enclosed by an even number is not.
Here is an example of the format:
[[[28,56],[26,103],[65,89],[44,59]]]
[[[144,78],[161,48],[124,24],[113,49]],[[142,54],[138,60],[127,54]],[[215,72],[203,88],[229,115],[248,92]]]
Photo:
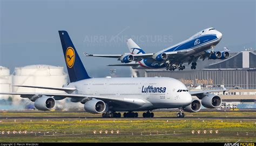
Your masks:
[[[136,111],[147,111],[143,117],[153,117],[150,111],[158,108],[179,108],[178,117],[184,117],[182,111],[198,112],[201,105],[216,108],[221,105],[221,98],[210,92],[226,91],[188,91],[187,87],[174,78],[91,78],[87,74],[77,54],[68,32],[59,31],[65,56],[70,83],[63,87],[16,85],[40,89],[61,90],[66,93],[0,93],[18,94],[35,102],[35,107],[42,111],[55,108],[56,100],[71,98],[72,102],[84,104],[86,112],[102,114],[104,118],[120,118],[118,112],[125,112],[124,117],[136,118]],[[191,96],[197,96],[193,99]]]

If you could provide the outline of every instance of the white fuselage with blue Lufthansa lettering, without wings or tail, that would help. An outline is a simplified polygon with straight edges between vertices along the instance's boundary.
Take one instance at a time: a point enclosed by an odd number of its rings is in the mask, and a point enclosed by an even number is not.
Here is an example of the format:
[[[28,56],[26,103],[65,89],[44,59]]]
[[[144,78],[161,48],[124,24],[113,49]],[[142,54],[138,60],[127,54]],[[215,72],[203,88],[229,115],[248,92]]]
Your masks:
[[[114,98],[136,103],[107,103],[110,111],[144,111],[157,108],[178,108],[190,105],[191,94],[187,87],[174,78],[90,78],[73,82],[67,87],[76,87],[75,94],[88,97]],[[183,90],[182,92],[177,92]]]

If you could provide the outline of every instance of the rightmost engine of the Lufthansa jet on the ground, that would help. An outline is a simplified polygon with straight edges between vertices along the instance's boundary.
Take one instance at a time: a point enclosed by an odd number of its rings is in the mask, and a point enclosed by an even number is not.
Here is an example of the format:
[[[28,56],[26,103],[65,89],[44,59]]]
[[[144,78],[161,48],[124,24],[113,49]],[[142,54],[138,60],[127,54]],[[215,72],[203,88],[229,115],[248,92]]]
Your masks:
[[[204,107],[217,108],[221,105],[222,100],[219,96],[215,96],[214,94],[206,94],[201,102]]]

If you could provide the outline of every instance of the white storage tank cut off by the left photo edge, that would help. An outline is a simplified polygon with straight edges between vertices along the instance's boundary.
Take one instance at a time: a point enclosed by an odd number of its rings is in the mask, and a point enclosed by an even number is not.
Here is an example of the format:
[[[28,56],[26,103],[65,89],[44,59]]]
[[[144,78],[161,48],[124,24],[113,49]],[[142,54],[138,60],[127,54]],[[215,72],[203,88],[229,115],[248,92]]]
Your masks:
[[[0,92],[11,92],[11,76],[8,68],[0,66]],[[0,95],[0,99],[8,99],[10,95]]]

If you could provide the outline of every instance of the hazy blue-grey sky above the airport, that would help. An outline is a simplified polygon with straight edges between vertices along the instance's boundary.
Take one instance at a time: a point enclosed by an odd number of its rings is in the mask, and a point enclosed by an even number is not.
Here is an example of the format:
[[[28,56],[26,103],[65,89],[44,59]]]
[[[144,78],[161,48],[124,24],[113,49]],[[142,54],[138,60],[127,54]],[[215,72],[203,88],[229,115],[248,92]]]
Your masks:
[[[158,52],[204,28],[223,33],[217,50],[255,49],[255,1],[0,1],[0,65],[11,71],[31,64],[65,67],[58,30],[66,30],[93,77],[129,76],[129,68],[106,67],[115,59],[83,56],[128,52],[134,38]],[[66,67],[65,67],[66,68]],[[66,69],[65,69],[66,70]]]

